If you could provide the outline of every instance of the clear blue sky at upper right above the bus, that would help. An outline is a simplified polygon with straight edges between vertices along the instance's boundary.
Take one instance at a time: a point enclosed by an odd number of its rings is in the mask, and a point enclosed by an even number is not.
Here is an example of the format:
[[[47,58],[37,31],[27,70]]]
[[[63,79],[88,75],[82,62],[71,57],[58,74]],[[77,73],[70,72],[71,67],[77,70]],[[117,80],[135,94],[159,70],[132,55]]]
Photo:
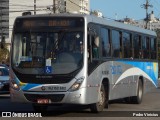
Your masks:
[[[90,0],[90,9],[98,10],[104,17],[110,19],[132,18],[141,20],[146,17],[146,10],[141,5],[146,0]],[[153,7],[148,12],[154,11],[155,17],[160,18],[160,0],[148,0]]]

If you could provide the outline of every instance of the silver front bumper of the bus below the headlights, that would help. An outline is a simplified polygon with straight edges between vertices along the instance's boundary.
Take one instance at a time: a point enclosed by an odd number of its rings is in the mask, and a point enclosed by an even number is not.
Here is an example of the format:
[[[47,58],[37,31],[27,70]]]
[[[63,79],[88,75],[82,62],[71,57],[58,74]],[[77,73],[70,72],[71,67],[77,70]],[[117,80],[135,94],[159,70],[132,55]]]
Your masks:
[[[12,102],[38,103],[39,100],[48,100],[46,104],[87,104],[84,91],[81,88],[74,92],[29,92],[10,88]]]

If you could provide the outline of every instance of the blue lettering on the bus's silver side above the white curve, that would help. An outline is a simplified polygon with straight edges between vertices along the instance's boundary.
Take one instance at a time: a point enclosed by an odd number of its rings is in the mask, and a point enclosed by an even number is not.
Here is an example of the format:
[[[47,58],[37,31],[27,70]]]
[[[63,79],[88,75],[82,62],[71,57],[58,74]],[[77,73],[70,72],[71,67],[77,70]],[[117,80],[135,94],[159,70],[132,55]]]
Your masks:
[[[118,65],[118,66],[111,65],[110,68],[111,68],[111,73],[113,75],[122,74],[122,66],[120,66],[120,65]]]

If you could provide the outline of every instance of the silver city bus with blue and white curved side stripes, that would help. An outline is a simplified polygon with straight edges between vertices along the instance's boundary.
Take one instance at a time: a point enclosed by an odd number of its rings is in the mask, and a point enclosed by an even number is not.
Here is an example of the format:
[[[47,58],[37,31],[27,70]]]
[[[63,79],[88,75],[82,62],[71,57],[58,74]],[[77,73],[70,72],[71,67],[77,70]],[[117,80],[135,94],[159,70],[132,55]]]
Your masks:
[[[12,102],[101,112],[109,101],[140,104],[158,86],[156,33],[80,14],[17,17],[10,63]]]

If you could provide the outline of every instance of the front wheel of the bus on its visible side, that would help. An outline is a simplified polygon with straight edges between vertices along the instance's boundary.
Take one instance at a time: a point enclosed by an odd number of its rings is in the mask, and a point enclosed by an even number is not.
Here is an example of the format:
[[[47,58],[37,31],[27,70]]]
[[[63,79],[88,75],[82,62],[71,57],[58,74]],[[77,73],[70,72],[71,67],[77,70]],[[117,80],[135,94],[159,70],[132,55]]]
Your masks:
[[[101,85],[101,89],[99,91],[100,99],[99,102],[93,103],[90,105],[91,112],[98,113],[103,111],[106,105],[106,92],[104,89],[104,85]]]

